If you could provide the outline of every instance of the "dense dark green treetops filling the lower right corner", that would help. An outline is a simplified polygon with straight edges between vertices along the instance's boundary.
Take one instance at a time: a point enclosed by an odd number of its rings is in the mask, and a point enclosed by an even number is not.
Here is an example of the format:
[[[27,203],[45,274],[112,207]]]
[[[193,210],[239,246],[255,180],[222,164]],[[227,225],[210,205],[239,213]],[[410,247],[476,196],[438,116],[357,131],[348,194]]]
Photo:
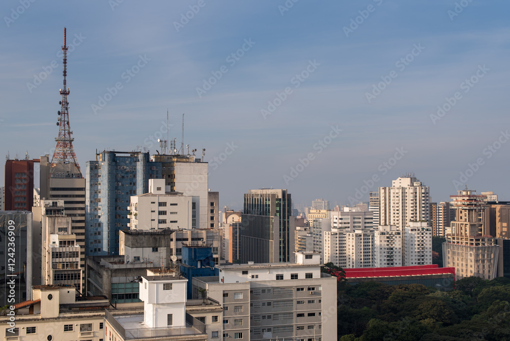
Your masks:
[[[451,291],[419,284],[339,286],[342,341],[510,339],[510,280],[465,278]]]

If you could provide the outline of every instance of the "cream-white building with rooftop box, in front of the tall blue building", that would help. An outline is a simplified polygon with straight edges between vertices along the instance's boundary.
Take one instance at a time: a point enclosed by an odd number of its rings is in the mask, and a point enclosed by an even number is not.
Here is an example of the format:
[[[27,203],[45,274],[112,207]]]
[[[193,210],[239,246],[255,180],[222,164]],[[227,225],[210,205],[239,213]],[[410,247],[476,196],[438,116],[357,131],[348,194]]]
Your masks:
[[[199,197],[169,190],[165,179],[149,179],[149,192],[131,197],[127,226],[132,230],[198,228]]]

